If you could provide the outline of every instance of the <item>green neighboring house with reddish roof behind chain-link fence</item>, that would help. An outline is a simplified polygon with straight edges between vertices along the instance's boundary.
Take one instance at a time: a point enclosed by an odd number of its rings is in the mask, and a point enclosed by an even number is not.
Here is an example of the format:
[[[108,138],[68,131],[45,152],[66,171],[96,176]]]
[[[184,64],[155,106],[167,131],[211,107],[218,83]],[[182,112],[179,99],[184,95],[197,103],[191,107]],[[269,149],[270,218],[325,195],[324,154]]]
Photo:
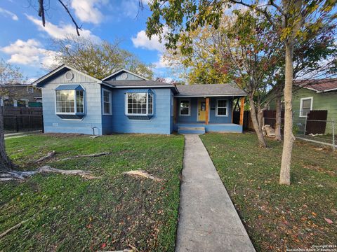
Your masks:
[[[270,109],[275,110],[275,102]],[[304,125],[309,111],[327,111],[326,120],[337,122],[337,78],[294,82],[293,121]],[[326,133],[331,133],[331,123],[326,124]]]

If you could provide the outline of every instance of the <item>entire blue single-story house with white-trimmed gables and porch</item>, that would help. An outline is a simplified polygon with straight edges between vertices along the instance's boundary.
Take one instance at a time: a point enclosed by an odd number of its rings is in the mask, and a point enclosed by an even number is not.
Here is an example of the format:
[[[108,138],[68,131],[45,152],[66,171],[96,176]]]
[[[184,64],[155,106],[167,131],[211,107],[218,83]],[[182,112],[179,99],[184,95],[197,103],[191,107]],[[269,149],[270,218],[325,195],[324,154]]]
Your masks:
[[[98,80],[62,65],[32,83],[42,90],[44,132],[112,134],[242,132],[229,84],[173,85],[121,69]]]

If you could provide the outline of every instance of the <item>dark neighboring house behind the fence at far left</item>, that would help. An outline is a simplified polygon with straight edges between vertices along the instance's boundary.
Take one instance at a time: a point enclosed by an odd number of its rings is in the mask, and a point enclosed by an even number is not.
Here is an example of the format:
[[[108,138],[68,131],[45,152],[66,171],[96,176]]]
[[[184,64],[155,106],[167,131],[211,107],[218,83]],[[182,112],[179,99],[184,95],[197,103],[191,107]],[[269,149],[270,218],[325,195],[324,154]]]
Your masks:
[[[33,85],[0,85],[0,106],[42,106],[41,89]]]

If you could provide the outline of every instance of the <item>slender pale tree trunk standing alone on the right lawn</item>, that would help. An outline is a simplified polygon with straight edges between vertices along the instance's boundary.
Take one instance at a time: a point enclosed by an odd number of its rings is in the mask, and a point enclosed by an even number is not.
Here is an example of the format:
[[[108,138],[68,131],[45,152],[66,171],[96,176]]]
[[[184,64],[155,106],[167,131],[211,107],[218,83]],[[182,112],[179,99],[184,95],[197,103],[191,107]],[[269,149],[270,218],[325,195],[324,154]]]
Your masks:
[[[286,43],[286,69],[284,84],[284,142],[279,183],[290,185],[291,151],[293,150],[293,43]]]

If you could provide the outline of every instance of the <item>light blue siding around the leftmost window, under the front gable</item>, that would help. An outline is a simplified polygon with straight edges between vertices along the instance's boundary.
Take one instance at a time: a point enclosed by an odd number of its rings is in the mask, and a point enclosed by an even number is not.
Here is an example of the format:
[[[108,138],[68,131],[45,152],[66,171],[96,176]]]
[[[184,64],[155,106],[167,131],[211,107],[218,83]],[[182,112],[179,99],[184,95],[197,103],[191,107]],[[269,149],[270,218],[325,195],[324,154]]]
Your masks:
[[[65,120],[55,114],[55,88],[60,84],[70,84],[64,76],[58,75],[48,80],[42,87],[42,102],[44,113],[44,132],[92,134],[92,127],[98,127],[95,134],[103,134],[100,85],[86,76],[74,75],[74,79],[86,80],[79,82],[85,89],[86,116],[82,120]]]

